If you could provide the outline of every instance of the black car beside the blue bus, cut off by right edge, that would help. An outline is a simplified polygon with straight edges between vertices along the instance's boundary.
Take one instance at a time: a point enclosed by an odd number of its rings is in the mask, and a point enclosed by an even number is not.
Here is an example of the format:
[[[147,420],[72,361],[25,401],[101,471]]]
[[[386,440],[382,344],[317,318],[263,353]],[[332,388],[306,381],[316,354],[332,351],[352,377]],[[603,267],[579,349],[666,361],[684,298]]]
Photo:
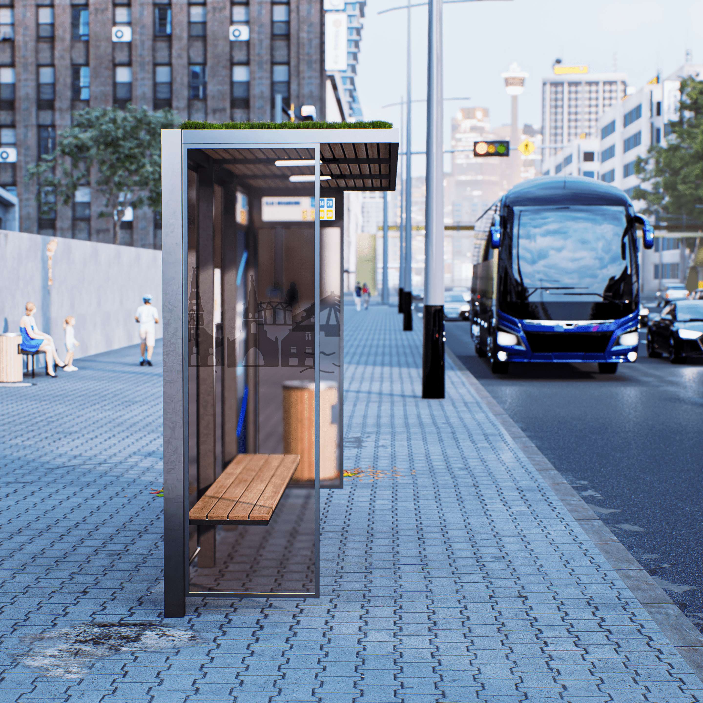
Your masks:
[[[671,363],[703,359],[703,300],[677,300],[650,319],[647,355],[668,356]]]

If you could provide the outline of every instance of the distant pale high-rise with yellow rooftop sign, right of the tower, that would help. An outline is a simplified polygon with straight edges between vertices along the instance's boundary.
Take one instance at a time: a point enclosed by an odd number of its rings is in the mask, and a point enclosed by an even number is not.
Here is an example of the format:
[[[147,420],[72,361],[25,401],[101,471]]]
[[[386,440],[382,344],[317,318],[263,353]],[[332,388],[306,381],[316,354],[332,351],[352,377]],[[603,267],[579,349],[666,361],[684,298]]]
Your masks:
[[[624,73],[589,73],[588,66],[555,63],[542,79],[542,134],[545,145],[565,145],[596,136],[598,117],[626,96]],[[545,157],[553,153],[546,150]]]

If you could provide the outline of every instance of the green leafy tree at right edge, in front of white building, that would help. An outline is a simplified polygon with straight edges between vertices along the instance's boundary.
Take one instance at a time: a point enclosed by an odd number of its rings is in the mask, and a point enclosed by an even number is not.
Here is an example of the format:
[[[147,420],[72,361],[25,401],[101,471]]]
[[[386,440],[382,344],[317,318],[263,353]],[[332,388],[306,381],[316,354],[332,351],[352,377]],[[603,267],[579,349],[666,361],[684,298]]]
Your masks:
[[[681,79],[678,120],[669,122],[665,143],[652,144],[637,160],[642,186],[633,200],[645,200],[648,214],[685,215],[699,219],[703,204],[703,81]]]

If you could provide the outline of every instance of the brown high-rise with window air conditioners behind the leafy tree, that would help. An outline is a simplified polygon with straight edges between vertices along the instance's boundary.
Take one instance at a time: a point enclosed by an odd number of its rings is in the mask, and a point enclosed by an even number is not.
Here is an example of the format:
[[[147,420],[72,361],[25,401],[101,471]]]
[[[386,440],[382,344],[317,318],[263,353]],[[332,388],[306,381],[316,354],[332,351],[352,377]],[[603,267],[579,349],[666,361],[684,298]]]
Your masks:
[[[18,196],[20,229],[112,242],[89,184],[39,219],[26,179],[72,111],[133,103],[183,119],[271,120],[278,93],[323,117],[322,48],[321,0],[0,0],[0,146],[17,151],[0,162],[0,186]],[[129,214],[120,243],[160,247],[158,219]]]

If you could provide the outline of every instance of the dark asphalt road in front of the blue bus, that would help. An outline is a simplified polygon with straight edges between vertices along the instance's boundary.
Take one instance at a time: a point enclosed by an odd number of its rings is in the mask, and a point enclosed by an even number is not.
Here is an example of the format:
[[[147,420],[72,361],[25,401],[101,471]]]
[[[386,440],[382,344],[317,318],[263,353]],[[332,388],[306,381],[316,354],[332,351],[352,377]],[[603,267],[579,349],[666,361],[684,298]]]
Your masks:
[[[703,631],[703,364],[513,363],[493,375],[469,323],[451,351]],[[640,340],[644,340],[640,333]]]

